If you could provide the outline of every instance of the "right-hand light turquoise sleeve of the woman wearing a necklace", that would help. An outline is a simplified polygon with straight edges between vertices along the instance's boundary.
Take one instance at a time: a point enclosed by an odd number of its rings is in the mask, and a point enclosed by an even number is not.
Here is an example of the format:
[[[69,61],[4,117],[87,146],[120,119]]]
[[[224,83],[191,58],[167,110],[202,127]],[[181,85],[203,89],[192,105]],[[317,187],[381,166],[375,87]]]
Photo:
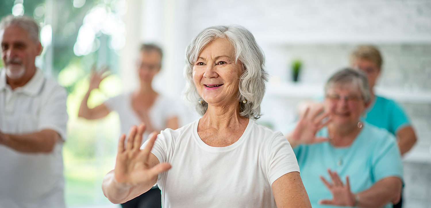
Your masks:
[[[372,175],[377,182],[385,177],[395,176],[403,180],[403,165],[400,150],[394,136],[386,132],[386,138],[377,144],[372,156]]]

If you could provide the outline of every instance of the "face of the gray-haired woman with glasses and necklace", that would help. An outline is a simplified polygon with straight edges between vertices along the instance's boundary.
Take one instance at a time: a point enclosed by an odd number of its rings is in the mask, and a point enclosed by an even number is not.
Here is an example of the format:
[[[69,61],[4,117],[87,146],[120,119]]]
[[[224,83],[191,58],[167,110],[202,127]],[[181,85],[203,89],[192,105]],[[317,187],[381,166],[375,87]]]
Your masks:
[[[367,107],[358,87],[334,84],[325,95],[325,111],[337,126],[355,125]]]

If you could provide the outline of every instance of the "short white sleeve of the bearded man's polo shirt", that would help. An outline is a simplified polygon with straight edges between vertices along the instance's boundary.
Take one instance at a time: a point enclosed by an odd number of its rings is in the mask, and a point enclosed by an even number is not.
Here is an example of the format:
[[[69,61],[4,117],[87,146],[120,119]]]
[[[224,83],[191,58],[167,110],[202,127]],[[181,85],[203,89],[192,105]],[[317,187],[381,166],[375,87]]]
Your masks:
[[[69,116],[66,109],[66,90],[56,85],[47,96],[41,108],[39,117],[39,130],[55,130],[62,140],[66,140],[66,125]]]

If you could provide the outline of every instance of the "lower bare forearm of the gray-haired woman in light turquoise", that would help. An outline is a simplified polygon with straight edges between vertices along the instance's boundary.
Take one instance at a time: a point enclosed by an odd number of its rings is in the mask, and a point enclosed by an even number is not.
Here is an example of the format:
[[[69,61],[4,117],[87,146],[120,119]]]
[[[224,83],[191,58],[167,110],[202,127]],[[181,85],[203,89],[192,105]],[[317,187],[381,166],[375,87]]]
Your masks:
[[[387,203],[399,200],[402,182],[398,177],[384,178],[371,188],[359,192],[359,203],[356,207],[375,208],[383,207]]]

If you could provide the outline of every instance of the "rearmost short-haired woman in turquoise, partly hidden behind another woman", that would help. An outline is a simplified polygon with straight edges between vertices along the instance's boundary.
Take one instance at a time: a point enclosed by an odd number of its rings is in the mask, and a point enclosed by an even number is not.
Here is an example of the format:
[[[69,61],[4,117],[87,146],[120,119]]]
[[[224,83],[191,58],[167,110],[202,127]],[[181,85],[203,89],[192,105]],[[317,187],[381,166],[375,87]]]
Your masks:
[[[379,50],[370,45],[356,47],[350,54],[350,64],[367,75],[371,92],[371,105],[367,109],[365,121],[384,128],[398,140],[401,155],[408,152],[416,142],[415,131],[403,109],[393,100],[374,94],[374,86],[381,74],[383,59]]]

